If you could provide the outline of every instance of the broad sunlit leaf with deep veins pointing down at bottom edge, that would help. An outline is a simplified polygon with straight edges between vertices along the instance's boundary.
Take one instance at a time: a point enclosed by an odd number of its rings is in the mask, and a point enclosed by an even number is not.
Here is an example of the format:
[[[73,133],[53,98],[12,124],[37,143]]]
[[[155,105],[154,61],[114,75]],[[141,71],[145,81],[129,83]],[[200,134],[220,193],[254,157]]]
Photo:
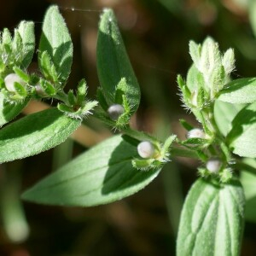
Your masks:
[[[245,199],[241,183],[198,179],[183,205],[177,256],[240,254]]]

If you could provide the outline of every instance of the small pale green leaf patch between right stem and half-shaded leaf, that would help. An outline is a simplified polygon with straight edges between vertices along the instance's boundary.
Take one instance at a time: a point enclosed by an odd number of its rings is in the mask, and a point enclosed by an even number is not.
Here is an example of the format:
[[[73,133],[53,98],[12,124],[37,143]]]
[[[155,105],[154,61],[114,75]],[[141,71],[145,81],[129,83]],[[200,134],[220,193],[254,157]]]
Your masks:
[[[214,119],[218,125],[219,131],[226,136],[232,128],[232,120],[236,114],[244,108],[244,104],[231,104],[216,100],[214,103]]]

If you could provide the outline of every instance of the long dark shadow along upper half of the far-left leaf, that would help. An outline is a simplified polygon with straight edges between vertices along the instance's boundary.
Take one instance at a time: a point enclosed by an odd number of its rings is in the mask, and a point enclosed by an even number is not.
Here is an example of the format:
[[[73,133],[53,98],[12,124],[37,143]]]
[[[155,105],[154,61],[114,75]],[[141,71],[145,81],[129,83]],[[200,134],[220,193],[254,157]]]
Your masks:
[[[62,115],[63,113],[57,108],[49,108],[37,113],[32,113],[1,129],[0,141],[23,137],[35,131],[41,131]]]

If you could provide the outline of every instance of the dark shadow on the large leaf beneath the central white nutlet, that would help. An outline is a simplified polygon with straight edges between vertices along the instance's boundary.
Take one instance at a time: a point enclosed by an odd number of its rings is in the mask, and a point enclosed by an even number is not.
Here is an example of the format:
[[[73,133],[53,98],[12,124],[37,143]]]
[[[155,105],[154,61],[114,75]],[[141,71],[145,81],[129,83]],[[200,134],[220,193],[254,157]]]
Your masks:
[[[135,187],[159,172],[143,172],[133,168],[131,160],[137,157],[137,145],[134,143],[135,141],[127,142],[127,137],[125,137],[125,140],[113,150],[113,154],[108,161],[108,171],[103,181],[102,195]]]

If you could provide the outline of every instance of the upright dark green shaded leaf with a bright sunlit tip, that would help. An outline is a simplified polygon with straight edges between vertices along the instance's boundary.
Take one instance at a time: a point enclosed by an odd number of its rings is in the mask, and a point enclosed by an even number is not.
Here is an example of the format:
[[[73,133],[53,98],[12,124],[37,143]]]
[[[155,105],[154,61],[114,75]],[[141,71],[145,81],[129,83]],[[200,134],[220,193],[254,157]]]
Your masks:
[[[128,89],[125,94],[132,107],[131,113],[134,113],[140,102],[140,88],[111,9],[105,9],[102,14],[96,55],[98,76],[108,106],[115,103],[116,86],[125,79]]]

